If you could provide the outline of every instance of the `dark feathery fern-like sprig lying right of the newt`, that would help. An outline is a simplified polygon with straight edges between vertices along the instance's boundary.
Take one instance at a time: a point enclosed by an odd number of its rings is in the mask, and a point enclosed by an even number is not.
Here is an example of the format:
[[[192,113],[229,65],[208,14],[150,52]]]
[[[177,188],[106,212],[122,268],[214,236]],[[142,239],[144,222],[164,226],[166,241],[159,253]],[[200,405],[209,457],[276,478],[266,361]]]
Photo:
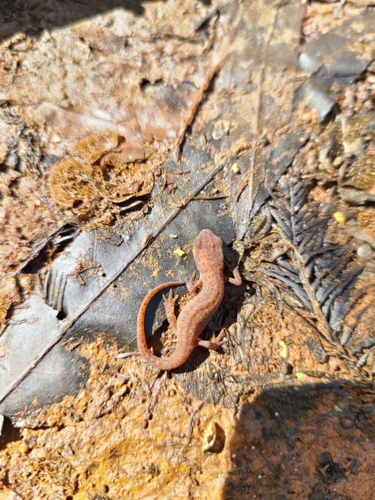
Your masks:
[[[290,249],[275,263],[258,269],[276,280],[278,287],[297,297],[315,316],[320,336],[335,346],[337,355],[357,364],[357,359],[350,357],[353,353],[344,346],[351,339],[363,312],[359,311],[351,323],[345,318],[359,297],[353,296],[353,290],[362,268],[349,269],[352,259],[347,247],[326,240],[330,218],[319,217],[316,208],[309,206],[311,186],[308,180],[281,181],[271,193],[271,215]],[[370,340],[363,345],[366,348],[373,346],[369,344]]]

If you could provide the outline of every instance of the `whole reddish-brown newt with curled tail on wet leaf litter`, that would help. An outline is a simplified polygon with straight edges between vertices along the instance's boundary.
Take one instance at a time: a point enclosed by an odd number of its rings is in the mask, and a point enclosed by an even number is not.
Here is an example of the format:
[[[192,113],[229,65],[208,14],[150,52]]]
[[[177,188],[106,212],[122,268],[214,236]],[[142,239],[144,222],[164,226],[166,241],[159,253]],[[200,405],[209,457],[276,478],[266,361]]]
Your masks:
[[[194,347],[200,345],[207,349],[216,350],[227,341],[224,330],[214,336],[211,340],[199,339],[200,333],[207,324],[209,318],[217,310],[224,295],[224,282],[229,281],[239,286],[241,276],[238,266],[232,269],[233,276],[224,276],[224,253],[222,240],[209,229],[202,229],[194,240],[192,253],[199,271],[199,279],[195,280],[195,273],[186,282],[170,281],[155,286],[143,298],[137,316],[137,341],[139,353],[147,363],[154,368],[171,370],[183,364]],[[178,295],[173,297],[172,290],[168,297],[163,295],[164,306],[168,323],[176,330],[176,346],[174,351],[167,357],[158,357],[152,354],[146,344],[144,333],[144,314],[150,299],[163,288],[169,286],[180,286],[186,284],[191,293],[197,288],[200,291],[182,307],[178,318],[174,314],[174,304]]]

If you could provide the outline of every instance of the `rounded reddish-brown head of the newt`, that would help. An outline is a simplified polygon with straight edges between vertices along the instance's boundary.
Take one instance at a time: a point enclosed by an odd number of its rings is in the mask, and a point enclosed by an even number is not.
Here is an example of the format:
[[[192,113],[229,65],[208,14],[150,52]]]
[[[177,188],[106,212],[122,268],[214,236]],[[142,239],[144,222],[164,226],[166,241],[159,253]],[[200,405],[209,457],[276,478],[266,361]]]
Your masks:
[[[192,254],[199,271],[223,269],[222,239],[209,229],[202,229],[192,245]]]

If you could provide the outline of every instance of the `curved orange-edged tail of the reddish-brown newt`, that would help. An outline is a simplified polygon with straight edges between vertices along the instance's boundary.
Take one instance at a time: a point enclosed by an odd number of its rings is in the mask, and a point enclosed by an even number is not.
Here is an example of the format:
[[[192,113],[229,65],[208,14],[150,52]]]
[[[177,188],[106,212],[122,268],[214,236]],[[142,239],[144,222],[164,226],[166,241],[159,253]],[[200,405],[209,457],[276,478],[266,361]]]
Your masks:
[[[138,310],[138,316],[136,319],[136,337],[138,342],[138,350],[140,352],[140,355],[145,361],[147,361],[148,364],[160,370],[171,370],[173,368],[177,368],[182,364],[184,360],[181,360],[181,355],[176,351],[176,349],[168,357],[158,357],[152,354],[146,344],[146,336],[144,333],[144,313],[146,311],[148,302],[154,295],[156,295],[157,292],[169,286],[181,286],[183,284],[185,283],[180,281],[169,281],[168,283],[163,283],[156,286],[155,288],[150,290],[143,298]]]

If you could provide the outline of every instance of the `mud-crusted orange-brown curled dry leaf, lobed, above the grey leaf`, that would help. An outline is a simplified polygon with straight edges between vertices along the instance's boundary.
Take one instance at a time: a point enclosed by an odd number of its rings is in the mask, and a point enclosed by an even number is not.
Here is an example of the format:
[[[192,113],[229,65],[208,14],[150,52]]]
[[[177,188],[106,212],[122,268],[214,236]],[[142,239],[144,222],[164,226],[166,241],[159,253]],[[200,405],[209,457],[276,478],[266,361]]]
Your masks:
[[[79,140],[71,156],[52,167],[48,182],[54,202],[87,215],[93,212],[93,206],[101,212],[108,202],[110,205],[148,194],[153,187],[153,173],[147,159],[127,162],[121,148],[124,142],[114,130]],[[107,203],[99,203],[101,199]]]

